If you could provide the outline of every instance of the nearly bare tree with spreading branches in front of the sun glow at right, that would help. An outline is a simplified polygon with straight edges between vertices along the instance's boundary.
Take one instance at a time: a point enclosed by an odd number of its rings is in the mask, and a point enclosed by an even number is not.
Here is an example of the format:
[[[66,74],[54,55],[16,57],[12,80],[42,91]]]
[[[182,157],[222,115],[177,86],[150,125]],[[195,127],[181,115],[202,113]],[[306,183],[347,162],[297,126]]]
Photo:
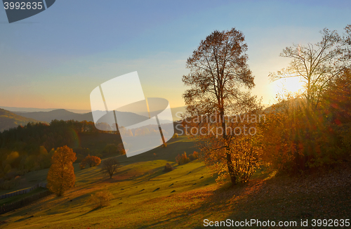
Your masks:
[[[299,77],[304,83],[303,96],[309,108],[317,107],[326,86],[350,67],[350,58],[347,58],[346,49],[342,44],[343,39],[338,33],[324,29],[321,34],[322,41],[317,44],[309,43],[307,46],[293,44],[286,47],[280,56],[292,58],[290,66],[269,75],[272,81]]]

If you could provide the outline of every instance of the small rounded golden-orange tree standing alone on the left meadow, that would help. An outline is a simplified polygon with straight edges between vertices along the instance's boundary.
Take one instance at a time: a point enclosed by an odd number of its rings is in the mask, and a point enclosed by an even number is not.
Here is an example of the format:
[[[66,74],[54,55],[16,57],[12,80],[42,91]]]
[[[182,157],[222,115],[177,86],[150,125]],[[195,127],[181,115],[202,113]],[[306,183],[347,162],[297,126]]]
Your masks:
[[[51,166],[48,170],[48,189],[56,195],[63,193],[74,186],[73,162],[77,159],[76,153],[67,145],[58,148],[51,158]]]

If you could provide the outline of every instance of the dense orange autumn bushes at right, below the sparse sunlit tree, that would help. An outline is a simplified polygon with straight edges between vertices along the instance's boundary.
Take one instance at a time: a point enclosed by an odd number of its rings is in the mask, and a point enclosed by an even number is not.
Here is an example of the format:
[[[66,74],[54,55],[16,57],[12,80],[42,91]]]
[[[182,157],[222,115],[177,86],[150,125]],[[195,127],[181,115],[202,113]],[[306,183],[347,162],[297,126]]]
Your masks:
[[[351,74],[331,81],[314,109],[303,98],[280,99],[267,112],[263,159],[289,174],[338,164],[350,158]]]

